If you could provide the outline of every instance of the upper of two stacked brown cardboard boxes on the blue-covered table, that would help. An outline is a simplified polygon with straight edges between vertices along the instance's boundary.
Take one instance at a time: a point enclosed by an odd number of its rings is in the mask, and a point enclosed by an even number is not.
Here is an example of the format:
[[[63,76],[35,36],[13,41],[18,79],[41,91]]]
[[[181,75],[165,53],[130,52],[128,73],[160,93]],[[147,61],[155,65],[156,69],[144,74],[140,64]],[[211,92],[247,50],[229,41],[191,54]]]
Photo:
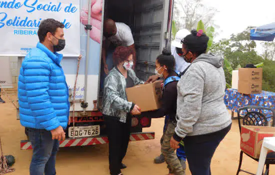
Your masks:
[[[262,68],[238,68],[239,81],[262,81]]]

